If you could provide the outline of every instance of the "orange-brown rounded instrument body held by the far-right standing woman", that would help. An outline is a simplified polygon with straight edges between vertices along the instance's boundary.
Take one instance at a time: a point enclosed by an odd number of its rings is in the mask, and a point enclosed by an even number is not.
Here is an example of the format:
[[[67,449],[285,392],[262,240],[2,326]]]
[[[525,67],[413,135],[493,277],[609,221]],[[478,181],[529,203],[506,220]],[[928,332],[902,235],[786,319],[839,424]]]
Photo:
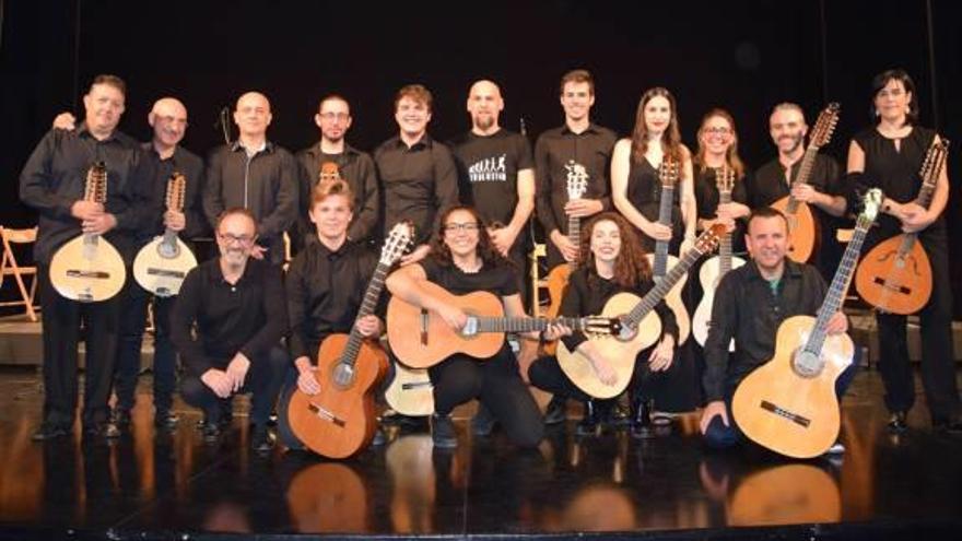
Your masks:
[[[855,271],[855,289],[866,303],[891,314],[907,316],[931,297],[931,263],[916,239],[904,255],[905,235],[879,243],[861,258]]]

